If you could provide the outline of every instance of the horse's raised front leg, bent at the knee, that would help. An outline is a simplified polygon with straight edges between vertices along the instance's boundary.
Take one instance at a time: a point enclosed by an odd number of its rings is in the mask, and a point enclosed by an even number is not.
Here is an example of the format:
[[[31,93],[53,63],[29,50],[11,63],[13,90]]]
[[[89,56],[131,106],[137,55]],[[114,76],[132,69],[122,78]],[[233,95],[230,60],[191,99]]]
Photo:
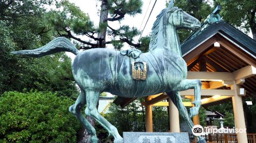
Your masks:
[[[195,92],[195,101],[192,103],[195,107],[189,109],[189,116],[193,117],[199,113],[201,106],[201,81],[200,80],[183,80],[173,90],[184,91],[187,89],[193,89]]]

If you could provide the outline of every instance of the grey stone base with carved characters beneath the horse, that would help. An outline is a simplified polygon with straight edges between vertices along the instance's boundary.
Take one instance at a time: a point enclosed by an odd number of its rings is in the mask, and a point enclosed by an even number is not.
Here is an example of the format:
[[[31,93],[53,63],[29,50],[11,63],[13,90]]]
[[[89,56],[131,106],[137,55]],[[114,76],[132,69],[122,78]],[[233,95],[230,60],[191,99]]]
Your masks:
[[[186,132],[123,132],[123,143],[189,143],[189,138]]]

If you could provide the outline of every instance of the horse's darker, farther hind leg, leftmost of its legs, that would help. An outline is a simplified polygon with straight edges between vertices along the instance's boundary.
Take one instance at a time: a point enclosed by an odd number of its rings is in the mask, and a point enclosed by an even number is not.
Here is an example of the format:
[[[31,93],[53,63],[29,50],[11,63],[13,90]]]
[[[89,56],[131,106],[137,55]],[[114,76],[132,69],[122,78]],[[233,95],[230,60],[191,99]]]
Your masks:
[[[91,142],[97,143],[98,138],[95,129],[81,113],[81,108],[84,105],[86,105],[86,94],[81,90],[81,93],[79,94],[75,104],[69,107],[69,111],[78,118],[83,127],[86,128],[88,134],[92,135]]]

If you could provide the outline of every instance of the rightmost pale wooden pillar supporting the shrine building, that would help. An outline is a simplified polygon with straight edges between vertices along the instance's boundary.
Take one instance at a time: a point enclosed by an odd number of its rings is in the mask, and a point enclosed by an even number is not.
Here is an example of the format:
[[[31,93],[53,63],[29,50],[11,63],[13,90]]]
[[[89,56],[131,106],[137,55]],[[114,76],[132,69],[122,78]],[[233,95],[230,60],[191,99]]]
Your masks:
[[[234,111],[234,122],[236,124],[237,129],[246,129],[245,119],[244,119],[244,109],[242,103],[242,97],[238,95],[237,89],[239,87],[234,84],[231,85],[231,90],[234,89],[234,96],[232,97],[233,103],[233,111]],[[238,132],[238,143],[247,143],[247,133],[246,130],[244,132]]]

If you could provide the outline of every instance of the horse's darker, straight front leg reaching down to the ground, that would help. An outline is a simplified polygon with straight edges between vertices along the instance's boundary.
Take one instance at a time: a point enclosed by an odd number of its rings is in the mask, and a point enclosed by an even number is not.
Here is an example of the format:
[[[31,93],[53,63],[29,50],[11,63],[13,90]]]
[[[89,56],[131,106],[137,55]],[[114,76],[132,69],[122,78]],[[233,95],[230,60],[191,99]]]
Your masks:
[[[180,92],[167,92],[167,94],[170,97],[170,99],[173,101],[174,105],[178,108],[179,113],[181,114],[185,122],[188,124],[190,130],[192,130],[194,124],[187,113],[186,107],[183,105],[182,99],[180,97]],[[201,137],[201,136],[197,137],[197,142],[206,143],[204,137]]]

